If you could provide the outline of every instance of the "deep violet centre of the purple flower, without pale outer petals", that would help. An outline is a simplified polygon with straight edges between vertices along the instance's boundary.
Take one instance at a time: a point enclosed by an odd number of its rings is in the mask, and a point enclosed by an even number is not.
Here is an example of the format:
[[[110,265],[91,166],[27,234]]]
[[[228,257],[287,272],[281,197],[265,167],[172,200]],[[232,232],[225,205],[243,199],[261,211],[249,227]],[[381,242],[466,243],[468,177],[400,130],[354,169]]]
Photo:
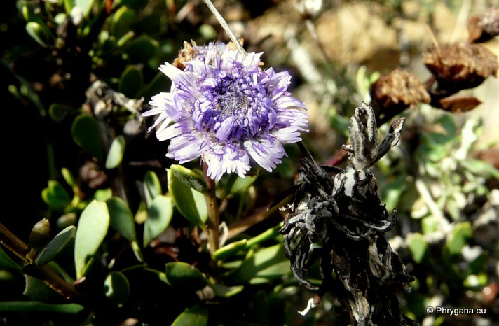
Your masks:
[[[265,71],[215,71],[202,82],[193,111],[195,127],[218,141],[242,141],[272,129],[276,112],[267,83]]]

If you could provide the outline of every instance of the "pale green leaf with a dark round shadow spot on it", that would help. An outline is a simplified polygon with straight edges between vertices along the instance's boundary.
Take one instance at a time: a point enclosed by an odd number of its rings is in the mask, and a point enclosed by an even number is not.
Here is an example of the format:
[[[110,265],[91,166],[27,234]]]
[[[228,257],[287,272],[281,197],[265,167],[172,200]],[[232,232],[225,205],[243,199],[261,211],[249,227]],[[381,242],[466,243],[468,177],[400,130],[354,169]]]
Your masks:
[[[144,223],[144,247],[163,233],[172,220],[172,199],[163,195],[157,196],[149,207],[149,214]]]

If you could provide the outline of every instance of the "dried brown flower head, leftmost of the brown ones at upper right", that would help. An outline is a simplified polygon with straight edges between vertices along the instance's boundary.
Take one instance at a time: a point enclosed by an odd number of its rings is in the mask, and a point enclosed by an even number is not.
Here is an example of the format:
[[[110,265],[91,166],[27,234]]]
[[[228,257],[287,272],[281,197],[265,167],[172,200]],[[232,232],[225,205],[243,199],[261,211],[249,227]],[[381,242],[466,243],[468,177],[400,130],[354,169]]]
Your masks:
[[[388,120],[418,103],[430,103],[425,85],[413,73],[396,69],[371,85],[378,122]]]

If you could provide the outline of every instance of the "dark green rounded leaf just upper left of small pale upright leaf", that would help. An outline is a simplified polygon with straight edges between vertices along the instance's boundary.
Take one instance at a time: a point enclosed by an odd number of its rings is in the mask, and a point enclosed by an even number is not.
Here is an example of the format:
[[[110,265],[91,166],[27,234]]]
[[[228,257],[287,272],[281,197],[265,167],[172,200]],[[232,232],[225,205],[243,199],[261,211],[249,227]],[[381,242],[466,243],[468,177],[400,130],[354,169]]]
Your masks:
[[[93,116],[85,113],[78,115],[71,126],[71,135],[78,146],[97,160],[102,160],[102,138]]]

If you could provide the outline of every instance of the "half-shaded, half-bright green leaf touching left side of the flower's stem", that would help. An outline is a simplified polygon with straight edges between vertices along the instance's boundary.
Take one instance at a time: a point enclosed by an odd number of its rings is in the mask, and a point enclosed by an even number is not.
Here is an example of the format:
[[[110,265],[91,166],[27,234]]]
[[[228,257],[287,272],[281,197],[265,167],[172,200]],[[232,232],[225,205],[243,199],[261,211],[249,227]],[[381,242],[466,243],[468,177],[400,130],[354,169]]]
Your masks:
[[[168,189],[175,206],[184,218],[195,225],[205,227],[208,211],[203,194],[184,185],[171,171],[168,171]]]

